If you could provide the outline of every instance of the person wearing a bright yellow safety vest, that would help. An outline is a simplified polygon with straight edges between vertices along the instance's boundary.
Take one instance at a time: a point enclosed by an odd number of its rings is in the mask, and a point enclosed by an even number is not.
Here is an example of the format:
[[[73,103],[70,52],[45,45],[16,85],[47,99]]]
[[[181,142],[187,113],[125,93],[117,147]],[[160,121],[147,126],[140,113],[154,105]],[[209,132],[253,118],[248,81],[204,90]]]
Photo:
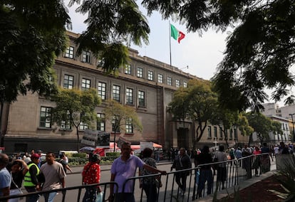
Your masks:
[[[38,181],[38,174],[40,173],[40,169],[38,167],[39,161],[40,156],[38,154],[35,153],[31,155],[31,162],[28,163],[29,172],[27,172],[24,176],[24,187],[29,193],[41,190],[40,182]],[[39,194],[27,196],[26,202],[36,202],[39,198]]]

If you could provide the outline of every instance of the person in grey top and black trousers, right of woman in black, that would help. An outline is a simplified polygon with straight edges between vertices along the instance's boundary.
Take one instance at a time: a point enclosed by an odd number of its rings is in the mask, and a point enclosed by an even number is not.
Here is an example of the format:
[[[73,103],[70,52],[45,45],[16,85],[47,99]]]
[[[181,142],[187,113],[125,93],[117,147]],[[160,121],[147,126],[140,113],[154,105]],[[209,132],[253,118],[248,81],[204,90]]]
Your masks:
[[[224,182],[227,180],[227,163],[224,161],[227,161],[228,159],[222,144],[219,145],[219,149],[215,153],[214,159],[217,159],[217,162],[222,162],[217,165],[217,181],[219,183],[221,182],[222,189],[224,189]]]

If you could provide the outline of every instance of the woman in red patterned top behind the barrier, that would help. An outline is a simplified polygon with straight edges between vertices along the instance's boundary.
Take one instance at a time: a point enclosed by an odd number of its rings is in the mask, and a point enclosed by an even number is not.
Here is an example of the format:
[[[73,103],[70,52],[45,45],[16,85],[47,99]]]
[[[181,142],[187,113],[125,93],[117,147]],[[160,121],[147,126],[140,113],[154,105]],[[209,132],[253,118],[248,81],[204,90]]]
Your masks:
[[[98,184],[100,181],[100,156],[99,154],[93,154],[90,162],[84,166],[82,172],[82,184]],[[90,186],[86,188],[83,202],[95,201],[96,192],[100,192],[100,186]]]

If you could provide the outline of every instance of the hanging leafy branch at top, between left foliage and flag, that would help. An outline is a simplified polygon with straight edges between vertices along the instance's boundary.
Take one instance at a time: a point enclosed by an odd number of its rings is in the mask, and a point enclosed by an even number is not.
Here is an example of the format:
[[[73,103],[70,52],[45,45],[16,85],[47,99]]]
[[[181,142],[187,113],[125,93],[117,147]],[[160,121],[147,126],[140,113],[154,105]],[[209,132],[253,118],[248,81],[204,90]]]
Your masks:
[[[133,0],[83,1],[76,10],[88,12],[87,31],[78,38],[78,54],[90,50],[101,61],[98,68],[116,75],[118,68],[128,63],[128,48],[133,42],[148,44],[150,28]]]

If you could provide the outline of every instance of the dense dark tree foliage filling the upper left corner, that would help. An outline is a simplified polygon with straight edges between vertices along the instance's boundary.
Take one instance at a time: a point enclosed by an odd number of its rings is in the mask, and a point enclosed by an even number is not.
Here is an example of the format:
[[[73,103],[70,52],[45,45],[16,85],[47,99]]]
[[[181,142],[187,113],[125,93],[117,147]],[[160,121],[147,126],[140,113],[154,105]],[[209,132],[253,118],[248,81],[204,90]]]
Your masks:
[[[53,69],[66,48],[70,26],[62,1],[1,1],[0,86],[4,101],[15,101],[28,90],[57,92]]]

